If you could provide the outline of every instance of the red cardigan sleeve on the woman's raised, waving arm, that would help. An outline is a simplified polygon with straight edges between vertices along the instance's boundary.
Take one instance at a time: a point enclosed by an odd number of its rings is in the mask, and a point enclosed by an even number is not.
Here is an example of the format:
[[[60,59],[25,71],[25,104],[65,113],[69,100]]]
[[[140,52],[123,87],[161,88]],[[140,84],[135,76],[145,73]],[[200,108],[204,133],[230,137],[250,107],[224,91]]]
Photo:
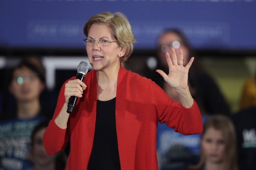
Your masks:
[[[185,108],[170,99],[164,90],[154,82],[151,82],[151,88],[160,123],[165,123],[168,127],[183,135],[202,132],[202,117],[195,100],[190,108]]]

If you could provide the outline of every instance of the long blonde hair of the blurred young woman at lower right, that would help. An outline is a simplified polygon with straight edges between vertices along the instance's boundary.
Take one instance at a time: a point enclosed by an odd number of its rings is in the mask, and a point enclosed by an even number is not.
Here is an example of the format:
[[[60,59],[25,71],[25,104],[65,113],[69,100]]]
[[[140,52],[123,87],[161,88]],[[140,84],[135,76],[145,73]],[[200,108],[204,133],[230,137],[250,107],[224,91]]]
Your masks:
[[[210,116],[203,128],[203,132],[201,134],[201,139],[204,137],[205,132],[209,128],[214,128],[216,130],[220,130],[223,133],[224,141],[225,141],[225,165],[224,170],[237,170],[237,145],[236,145],[236,132],[233,123],[231,120],[224,115],[213,115]],[[190,166],[191,169],[200,169],[205,164],[205,155],[202,150],[201,145],[201,153],[200,153],[200,161],[197,165]]]

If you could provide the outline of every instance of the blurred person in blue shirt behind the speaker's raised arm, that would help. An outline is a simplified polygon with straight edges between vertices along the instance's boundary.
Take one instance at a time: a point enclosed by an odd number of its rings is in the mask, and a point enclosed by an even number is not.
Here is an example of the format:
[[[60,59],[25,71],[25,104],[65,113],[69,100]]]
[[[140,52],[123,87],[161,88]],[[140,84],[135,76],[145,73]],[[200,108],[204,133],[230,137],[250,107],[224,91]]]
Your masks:
[[[201,110],[200,99],[191,81],[188,78],[189,91]],[[180,103],[172,87],[163,83],[163,90],[170,98]],[[204,123],[208,116],[202,112],[201,115]],[[158,168],[160,170],[183,170],[190,164],[196,164],[200,154],[200,136],[200,134],[184,136],[165,124],[158,123],[156,138]]]

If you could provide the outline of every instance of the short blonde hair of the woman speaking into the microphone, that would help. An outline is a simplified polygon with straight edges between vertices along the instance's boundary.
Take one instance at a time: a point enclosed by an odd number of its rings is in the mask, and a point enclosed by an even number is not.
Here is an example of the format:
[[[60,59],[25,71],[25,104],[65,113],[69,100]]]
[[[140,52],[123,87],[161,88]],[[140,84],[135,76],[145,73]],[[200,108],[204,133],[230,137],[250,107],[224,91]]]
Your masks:
[[[136,42],[126,16],[120,12],[114,14],[103,12],[92,16],[83,27],[83,33],[86,37],[88,37],[89,29],[93,24],[105,24],[111,29],[113,37],[118,41],[118,45],[126,48],[124,56],[120,57],[120,62],[125,62],[132,54],[133,43]]]

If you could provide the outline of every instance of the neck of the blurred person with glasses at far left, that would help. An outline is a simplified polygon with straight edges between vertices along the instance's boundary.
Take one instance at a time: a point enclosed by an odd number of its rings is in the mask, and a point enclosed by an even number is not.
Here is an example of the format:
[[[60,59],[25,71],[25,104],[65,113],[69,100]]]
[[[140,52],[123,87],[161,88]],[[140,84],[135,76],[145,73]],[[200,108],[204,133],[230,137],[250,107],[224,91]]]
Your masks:
[[[40,101],[31,100],[31,101],[20,101],[18,102],[18,118],[28,119],[37,116],[40,111]]]

